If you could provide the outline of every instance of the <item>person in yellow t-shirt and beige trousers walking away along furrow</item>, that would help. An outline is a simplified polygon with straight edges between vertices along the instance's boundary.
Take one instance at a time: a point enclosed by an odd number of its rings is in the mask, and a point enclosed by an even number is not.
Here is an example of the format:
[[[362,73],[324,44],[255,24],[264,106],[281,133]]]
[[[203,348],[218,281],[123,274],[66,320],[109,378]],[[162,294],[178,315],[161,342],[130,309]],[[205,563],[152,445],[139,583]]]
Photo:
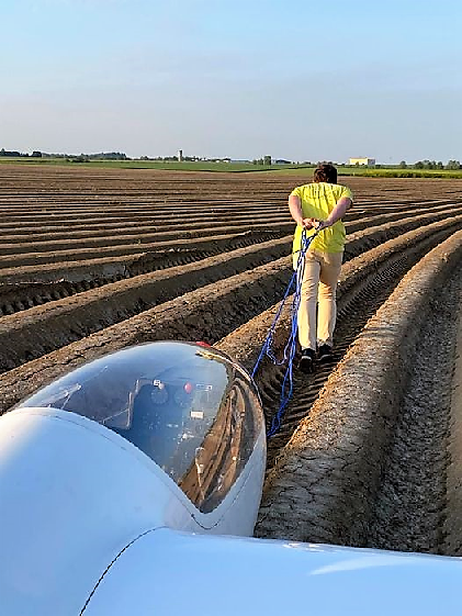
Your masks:
[[[297,314],[302,347],[298,367],[303,372],[313,372],[316,358],[325,361],[333,352],[336,290],[346,238],[341,217],[352,202],[351,190],[337,183],[337,169],[330,164],[318,165],[313,182],[296,187],[289,197],[289,210],[296,222],[293,240],[295,270],[303,229],[307,236],[317,233],[305,254]]]

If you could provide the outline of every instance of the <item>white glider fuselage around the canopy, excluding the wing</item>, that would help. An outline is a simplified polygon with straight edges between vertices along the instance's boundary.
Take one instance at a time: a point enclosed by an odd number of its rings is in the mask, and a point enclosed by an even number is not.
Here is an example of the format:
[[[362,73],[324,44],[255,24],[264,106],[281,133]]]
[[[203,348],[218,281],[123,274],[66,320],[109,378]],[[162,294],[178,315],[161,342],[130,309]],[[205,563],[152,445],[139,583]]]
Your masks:
[[[114,432],[54,408],[0,417],[1,614],[80,614],[100,578],[161,527],[251,535],[264,434],[226,499],[203,514],[145,453]]]

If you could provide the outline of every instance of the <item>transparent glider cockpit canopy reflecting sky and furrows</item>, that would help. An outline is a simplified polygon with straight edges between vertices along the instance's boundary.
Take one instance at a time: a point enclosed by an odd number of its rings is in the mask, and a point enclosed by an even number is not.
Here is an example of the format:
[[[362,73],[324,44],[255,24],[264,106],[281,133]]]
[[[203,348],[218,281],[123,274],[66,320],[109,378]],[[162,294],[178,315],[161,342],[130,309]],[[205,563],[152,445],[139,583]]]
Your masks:
[[[192,343],[129,347],[78,368],[22,401],[111,428],[149,456],[202,511],[226,496],[263,426],[249,376]]]

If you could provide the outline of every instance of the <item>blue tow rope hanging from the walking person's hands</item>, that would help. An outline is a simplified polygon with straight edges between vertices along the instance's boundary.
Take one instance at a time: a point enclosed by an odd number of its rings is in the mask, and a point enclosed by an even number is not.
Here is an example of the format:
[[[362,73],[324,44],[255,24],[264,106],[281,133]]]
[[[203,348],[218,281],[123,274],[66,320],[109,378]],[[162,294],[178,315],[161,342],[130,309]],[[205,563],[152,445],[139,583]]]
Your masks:
[[[297,313],[298,313],[301,292],[302,292],[303,273],[304,273],[304,270],[305,270],[305,255],[306,255],[306,251],[309,248],[311,243],[313,242],[313,239],[316,237],[317,234],[318,234],[318,232],[315,232],[313,235],[307,236],[305,228],[302,232],[302,245],[301,245],[301,249],[300,249],[300,253],[298,253],[296,269],[292,275],[291,281],[289,282],[289,285],[285,290],[284,296],[283,296],[283,299],[280,303],[278,312],[274,316],[274,320],[273,320],[273,322],[272,322],[272,324],[269,328],[268,335],[264,339],[263,346],[261,347],[260,355],[258,356],[258,359],[257,359],[256,365],[253,366],[253,370],[251,372],[251,378],[253,379],[255,374],[257,373],[258,367],[259,367],[259,365],[260,365],[260,362],[261,362],[261,360],[263,359],[264,356],[269,357],[270,360],[274,363],[274,366],[283,366],[285,362],[288,363],[288,367],[286,367],[285,373],[284,373],[284,379],[282,381],[279,410],[278,410],[278,413],[272,418],[271,427],[267,433],[268,437],[273,436],[279,430],[279,428],[281,427],[282,416],[284,414],[285,407],[286,407],[286,405],[288,405],[288,403],[289,403],[289,401],[292,396],[292,392],[293,392],[293,361],[294,361],[295,351],[296,351],[296,334],[297,334],[297,328],[298,328]],[[290,295],[290,293],[292,291],[292,287],[294,287],[294,285],[295,285],[295,290],[294,290],[292,306],[291,306],[291,320],[292,320],[291,331],[290,331],[290,334],[289,334],[289,339],[288,339],[288,341],[285,343],[285,346],[284,346],[283,357],[282,357],[282,359],[278,360],[278,358],[275,357],[275,354],[272,349],[275,326],[277,326],[277,323],[278,323],[278,321],[281,316],[282,310],[284,307],[285,300]]]

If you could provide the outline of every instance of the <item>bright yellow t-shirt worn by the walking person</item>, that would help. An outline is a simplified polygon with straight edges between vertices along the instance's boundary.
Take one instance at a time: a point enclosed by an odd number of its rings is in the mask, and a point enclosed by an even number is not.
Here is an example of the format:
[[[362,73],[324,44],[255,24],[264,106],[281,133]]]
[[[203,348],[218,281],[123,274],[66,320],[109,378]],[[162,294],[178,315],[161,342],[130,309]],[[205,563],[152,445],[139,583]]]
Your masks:
[[[346,186],[330,184],[327,182],[313,182],[311,184],[297,186],[291,192],[292,195],[300,197],[302,203],[302,214],[304,219],[318,219],[325,221],[341,197],[353,200],[351,190]],[[296,225],[293,240],[293,253],[301,249],[302,244],[301,225]],[[307,229],[307,236],[315,233],[314,228]],[[333,226],[323,228],[319,235],[313,239],[309,248],[322,253],[341,253],[345,246],[345,225],[337,221]]]

